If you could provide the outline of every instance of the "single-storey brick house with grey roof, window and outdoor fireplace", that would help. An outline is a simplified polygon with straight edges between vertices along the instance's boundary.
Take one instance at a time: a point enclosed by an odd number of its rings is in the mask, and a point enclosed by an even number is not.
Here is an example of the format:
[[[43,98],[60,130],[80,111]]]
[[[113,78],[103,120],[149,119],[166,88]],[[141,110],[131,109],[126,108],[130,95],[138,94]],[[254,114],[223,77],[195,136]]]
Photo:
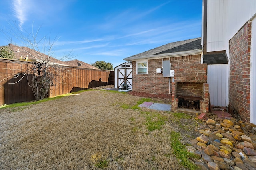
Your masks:
[[[198,102],[200,112],[208,112],[207,64],[202,64],[201,38],[168,43],[124,60],[133,65],[133,91],[169,94],[173,111],[183,99]]]

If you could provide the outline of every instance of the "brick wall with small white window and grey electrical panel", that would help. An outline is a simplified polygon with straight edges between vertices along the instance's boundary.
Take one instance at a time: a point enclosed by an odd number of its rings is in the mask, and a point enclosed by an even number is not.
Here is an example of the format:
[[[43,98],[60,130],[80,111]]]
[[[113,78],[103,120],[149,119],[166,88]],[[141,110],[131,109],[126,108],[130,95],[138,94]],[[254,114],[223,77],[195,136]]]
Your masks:
[[[201,63],[201,55],[188,55],[182,57],[170,57],[171,70],[182,64]],[[162,68],[162,59],[148,60],[148,74],[136,74],[136,61],[132,62],[132,90],[135,92],[146,92],[152,94],[169,94],[169,78],[163,74],[157,74],[156,68]],[[176,73],[175,73],[176,74]],[[175,75],[176,76],[176,75]],[[171,78],[172,82],[172,78]],[[172,93],[172,83],[170,87]]]

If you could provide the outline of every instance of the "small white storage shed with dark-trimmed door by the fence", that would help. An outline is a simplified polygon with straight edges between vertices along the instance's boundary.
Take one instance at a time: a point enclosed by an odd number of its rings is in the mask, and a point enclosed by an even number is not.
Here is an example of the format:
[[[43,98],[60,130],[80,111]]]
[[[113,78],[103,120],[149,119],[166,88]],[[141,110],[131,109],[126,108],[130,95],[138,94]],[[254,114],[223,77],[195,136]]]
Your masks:
[[[116,66],[115,72],[115,88],[128,90],[132,89],[132,64],[123,63]]]

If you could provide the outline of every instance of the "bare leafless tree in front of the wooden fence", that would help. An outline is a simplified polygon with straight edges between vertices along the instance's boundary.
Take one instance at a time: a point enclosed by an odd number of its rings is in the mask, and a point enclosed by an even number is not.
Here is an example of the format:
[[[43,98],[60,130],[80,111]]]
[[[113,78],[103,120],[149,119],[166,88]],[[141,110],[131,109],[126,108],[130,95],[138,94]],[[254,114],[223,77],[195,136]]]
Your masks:
[[[50,36],[39,38],[39,31],[41,27],[39,27],[36,32],[33,31],[32,27],[32,32],[29,33],[20,31],[15,24],[14,26],[11,25],[11,27],[12,29],[10,29],[10,31],[2,30],[10,43],[19,46],[20,49],[26,51],[30,56],[37,59],[31,68],[28,68],[25,72],[17,74],[14,77],[21,77],[17,80],[17,82],[19,82],[24,78],[24,76],[19,75],[26,75],[28,84],[32,88],[36,100],[42,100],[48,96],[48,91],[51,86],[55,85],[54,82],[56,82],[56,78],[58,76],[62,76],[63,72],[67,72],[72,76],[70,69],[60,66],[60,64],[56,63],[56,59],[52,57],[54,54],[54,43],[57,41],[56,37],[52,41]],[[18,45],[18,43],[14,42],[13,39],[18,40],[19,43],[22,43],[24,46]],[[33,49],[33,53],[31,53],[31,51],[26,47]],[[70,59],[70,55],[71,52],[64,55],[60,60]],[[32,78],[30,75],[32,75]]]

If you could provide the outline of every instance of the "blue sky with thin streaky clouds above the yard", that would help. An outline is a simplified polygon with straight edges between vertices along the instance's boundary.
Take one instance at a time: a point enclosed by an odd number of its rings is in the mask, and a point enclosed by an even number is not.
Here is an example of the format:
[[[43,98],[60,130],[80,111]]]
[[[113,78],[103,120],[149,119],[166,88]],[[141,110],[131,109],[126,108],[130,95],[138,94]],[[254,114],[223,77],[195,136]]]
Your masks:
[[[4,33],[14,23],[24,35],[40,27],[38,37],[56,37],[57,59],[72,51],[72,59],[115,67],[123,58],[201,37],[202,0],[0,0],[0,46],[10,43]]]

